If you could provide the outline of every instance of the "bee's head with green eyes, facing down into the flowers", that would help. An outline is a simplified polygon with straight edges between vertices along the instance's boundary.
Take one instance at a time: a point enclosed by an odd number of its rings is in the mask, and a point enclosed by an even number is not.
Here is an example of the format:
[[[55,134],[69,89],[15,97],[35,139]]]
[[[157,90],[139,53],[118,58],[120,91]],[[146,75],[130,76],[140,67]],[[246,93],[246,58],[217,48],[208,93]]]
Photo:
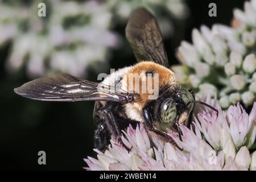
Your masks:
[[[170,97],[164,98],[159,107],[161,129],[175,130],[175,123],[187,125],[187,118],[193,108],[194,95],[190,90],[177,89]]]

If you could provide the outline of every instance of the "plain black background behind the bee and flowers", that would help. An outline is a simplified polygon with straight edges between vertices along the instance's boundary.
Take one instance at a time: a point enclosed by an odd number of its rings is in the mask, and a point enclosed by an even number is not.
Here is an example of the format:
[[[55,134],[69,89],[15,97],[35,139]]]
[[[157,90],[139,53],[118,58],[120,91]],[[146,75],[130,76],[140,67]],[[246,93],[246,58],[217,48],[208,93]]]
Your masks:
[[[208,16],[208,5],[217,4],[217,17]],[[201,24],[230,24],[234,7],[243,9],[242,0],[188,1],[191,11],[184,25],[184,40],[191,42],[193,27]],[[1,12],[0,12],[1,15]],[[123,37],[125,26],[115,29]],[[180,37],[181,32],[175,32]],[[177,63],[174,52],[180,40],[166,39],[171,64]],[[127,44],[127,42],[125,43]],[[131,49],[123,46],[113,51],[110,68],[122,68],[135,63]],[[95,156],[93,152],[93,102],[40,102],[14,94],[13,89],[29,81],[25,68],[15,74],[6,73],[5,60],[10,44],[0,47],[0,169],[81,170],[82,160]],[[96,81],[93,69],[88,69],[88,80]],[[46,165],[38,164],[38,151],[46,151]]]

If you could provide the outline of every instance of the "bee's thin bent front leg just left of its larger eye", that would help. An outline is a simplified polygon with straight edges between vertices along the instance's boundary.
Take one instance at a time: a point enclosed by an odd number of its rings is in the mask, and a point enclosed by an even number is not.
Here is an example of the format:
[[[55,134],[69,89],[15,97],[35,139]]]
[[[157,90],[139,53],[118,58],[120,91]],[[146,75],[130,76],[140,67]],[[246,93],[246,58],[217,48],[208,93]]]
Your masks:
[[[168,142],[179,148],[179,150],[183,150],[183,148],[180,147],[170,135],[164,133],[161,130],[155,129],[152,122],[151,114],[149,113],[148,109],[143,109],[143,116],[146,121],[146,127],[148,128],[148,130],[153,131],[155,134],[160,135],[163,138],[166,138]]]

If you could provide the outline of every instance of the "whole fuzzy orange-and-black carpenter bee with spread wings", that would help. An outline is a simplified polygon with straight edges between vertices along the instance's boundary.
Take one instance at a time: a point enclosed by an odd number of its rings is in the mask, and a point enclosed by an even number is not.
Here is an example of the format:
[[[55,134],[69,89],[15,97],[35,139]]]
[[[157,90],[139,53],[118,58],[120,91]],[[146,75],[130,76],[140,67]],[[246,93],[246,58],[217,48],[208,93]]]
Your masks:
[[[170,70],[158,23],[146,9],[138,8],[131,14],[126,37],[138,63],[118,69],[99,84],[57,73],[27,82],[14,92],[42,101],[96,101],[95,147],[99,150],[104,150],[110,138],[130,150],[122,143],[122,129],[139,122],[153,140],[170,142],[182,149],[167,130],[175,131],[181,139],[179,125],[188,126],[194,103],[204,103],[195,101],[191,90],[179,86]]]

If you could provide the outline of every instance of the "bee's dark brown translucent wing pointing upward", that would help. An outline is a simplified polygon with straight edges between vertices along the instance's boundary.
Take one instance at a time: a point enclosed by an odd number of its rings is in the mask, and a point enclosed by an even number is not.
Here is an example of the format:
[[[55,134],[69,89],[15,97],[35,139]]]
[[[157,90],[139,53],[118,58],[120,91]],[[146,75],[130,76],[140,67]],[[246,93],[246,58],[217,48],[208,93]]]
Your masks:
[[[154,61],[170,68],[158,23],[146,9],[136,9],[130,16],[126,37],[137,61]]]

